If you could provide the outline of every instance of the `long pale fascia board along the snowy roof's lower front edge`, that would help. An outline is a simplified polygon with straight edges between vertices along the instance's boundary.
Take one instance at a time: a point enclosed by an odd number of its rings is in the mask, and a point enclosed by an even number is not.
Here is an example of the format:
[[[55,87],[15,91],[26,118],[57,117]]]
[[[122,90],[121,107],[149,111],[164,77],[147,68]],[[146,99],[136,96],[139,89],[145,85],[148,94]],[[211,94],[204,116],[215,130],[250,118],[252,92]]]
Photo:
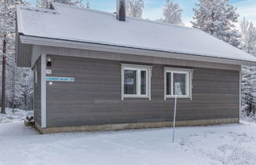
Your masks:
[[[168,52],[162,50],[152,50],[152,49],[142,49],[133,48],[126,46],[114,46],[101,43],[92,42],[79,42],[62,40],[57,38],[40,38],[35,36],[21,35],[21,43],[33,44],[39,46],[56,46],[56,47],[66,47],[73,49],[90,49],[96,51],[106,51],[111,53],[129,53],[134,55],[148,56],[148,57],[165,57],[174,58],[179,60],[189,60],[189,61],[204,61],[213,62],[220,64],[236,64],[236,65],[252,65],[256,66],[256,62],[253,61],[243,61],[236,59],[228,59],[224,57],[209,57],[200,54],[192,53],[179,53],[179,52]]]

